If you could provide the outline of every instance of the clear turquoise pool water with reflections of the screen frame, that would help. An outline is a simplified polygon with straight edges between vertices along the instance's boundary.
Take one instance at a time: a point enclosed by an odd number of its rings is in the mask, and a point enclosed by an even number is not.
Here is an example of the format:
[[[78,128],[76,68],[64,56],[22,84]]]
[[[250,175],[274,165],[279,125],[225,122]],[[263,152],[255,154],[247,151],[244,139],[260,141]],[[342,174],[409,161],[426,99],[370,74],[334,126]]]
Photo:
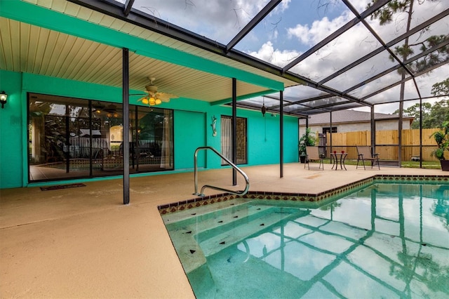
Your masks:
[[[196,298],[449,298],[448,185],[374,184],[318,208],[236,199],[163,220]]]

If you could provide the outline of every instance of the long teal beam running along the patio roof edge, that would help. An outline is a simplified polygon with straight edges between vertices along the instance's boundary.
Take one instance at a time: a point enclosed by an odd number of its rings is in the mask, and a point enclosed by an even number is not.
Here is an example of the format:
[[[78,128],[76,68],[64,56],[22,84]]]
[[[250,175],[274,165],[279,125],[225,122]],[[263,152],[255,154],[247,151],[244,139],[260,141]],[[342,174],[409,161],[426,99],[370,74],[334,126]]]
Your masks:
[[[242,69],[168,48],[152,41],[130,36],[129,34],[118,32],[114,29],[96,25],[24,1],[2,1],[0,16],[72,36],[78,36],[83,39],[97,41],[101,44],[107,44],[117,48],[129,48],[130,51],[149,58],[198,69],[222,77],[233,77],[239,81],[262,86],[270,90],[283,91],[284,89],[283,83],[280,81],[274,81]]]

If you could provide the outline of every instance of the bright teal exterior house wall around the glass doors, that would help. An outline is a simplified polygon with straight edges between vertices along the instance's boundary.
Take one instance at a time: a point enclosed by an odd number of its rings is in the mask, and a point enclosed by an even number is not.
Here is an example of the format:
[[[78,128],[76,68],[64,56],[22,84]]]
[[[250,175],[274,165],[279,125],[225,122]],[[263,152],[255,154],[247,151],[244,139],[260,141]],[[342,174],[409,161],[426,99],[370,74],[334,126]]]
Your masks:
[[[0,188],[25,187],[27,179],[27,93],[69,96],[86,100],[121,102],[121,88],[79,81],[43,77],[0,70],[0,91],[8,93],[8,103],[0,109]],[[138,92],[138,91],[135,91]],[[138,98],[131,97],[130,104]],[[231,116],[228,106],[185,98],[161,105],[174,110],[175,171],[193,171],[194,150],[200,146],[220,151],[220,117]],[[212,119],[217,118],[217,136]],[[237,109],[248,125],[248,166],[279,163],[279,115]],[[284,162],[297,161],[297,119],[284,117]],[[212,152],[199,153],[200,168],[221,168],[220,158]],[[154,173],[153,173],[154,174]],[[95,178],[95,180],[107,178]]]

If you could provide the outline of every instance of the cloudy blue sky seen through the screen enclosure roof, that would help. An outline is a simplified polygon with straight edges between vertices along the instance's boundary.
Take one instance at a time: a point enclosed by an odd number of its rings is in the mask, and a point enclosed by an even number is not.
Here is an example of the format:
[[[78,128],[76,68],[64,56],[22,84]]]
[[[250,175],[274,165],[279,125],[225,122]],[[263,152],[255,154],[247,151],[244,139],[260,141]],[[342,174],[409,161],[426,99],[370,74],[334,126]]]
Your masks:
[[[226,45],[268,2],[269,0],[135,0],[133,8]],[[361,13],[365,11],[370,0],[350,0],[350,2]],[[449,8],[449,0],[415,0],[414,5],[412,27]],[[284,67],[354,17],[354,14],[340,0],[283,0],[235,48],[273,65]],[[384,26],[370,18],[366,18],[366,21],[382,41],[387,43],[403,34],[406,29],[405,13],[398,13],[393,19],[393,22]],[[431,25],[426,32],[411,36],[410,44],[417,44],[415,53],[419,53],[419,44],[427,36],[448,34],[448,32],[449,17],[446,17]],[[302,60],[290,71],[314,81],[321,81],[379,46],[381,44],[373,34],[358,23],[335,41]],[[394,65],[388,53],[381,53],[326,82],[325,85],[344,91]],[[437,71],[430,74],[417,77],[422,97],[431,95],[432,84],[448,77],[449,64],[439,67]],[[387,76],[351,91],[350,94],[356,97],[370,95],[398,79],[400,75],[397,72],[391,72]],[[319,91],[304,88],[304,86],[288,88],[285,91],[285,95],[299,98],[318,94]],[[389,91],[375,95],[372,101],[380,102],[385,98],[397,100],[398,97],[398,88],[391,88]],[[406,84],[406,98],[418,98],[412,80]],[[414,103],[406,102],[405,106]],[[392,113],[396,109],[398,104],[376,106],[376,112]]]

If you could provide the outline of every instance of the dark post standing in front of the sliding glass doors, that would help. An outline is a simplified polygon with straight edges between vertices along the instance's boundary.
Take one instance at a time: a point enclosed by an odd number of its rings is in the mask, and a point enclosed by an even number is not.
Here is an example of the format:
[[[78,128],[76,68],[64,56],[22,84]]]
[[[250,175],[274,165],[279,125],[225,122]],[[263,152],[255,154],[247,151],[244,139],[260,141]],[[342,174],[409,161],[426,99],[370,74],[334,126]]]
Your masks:
[[[129,50],[122,51],[123,85],[123,204],[129,204]]]

